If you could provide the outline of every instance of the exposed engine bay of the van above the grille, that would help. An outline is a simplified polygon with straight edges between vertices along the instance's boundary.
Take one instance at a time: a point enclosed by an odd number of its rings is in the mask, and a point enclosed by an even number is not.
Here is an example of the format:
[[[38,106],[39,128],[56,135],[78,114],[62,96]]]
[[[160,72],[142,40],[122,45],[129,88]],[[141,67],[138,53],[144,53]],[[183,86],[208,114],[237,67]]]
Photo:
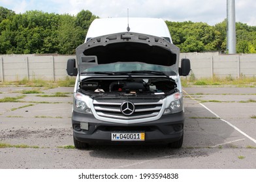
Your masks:
[[[115,78],[95,77],[83,79],[79,85],[82,92],[116,94],[172,94],[176,90],[176,83],[167,77],[153,78]]]

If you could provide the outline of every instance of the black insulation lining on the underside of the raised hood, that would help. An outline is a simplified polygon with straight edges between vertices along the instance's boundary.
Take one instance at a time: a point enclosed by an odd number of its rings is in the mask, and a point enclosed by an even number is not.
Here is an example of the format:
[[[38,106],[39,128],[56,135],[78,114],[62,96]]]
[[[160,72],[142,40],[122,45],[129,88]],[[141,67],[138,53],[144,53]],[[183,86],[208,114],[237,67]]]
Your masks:
[[[169,50],[137,42],[117,42],[100,45],[86,49],[84,55],[96,55],[98,64],[134,61],[170,66],[176,63],[176,54]]]

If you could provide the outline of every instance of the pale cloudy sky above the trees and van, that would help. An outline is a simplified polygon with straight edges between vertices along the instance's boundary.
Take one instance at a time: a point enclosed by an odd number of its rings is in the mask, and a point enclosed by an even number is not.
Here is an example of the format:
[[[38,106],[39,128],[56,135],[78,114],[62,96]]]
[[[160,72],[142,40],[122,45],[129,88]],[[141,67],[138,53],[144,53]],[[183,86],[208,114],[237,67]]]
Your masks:
[[[256,26],[256,1],[235,0],[236,21]],[[76,15],[89,10],[100,18],[147,17],[168,21],[193,21],[216,25],[227,17],[226,0],[0,0],[16,14],[40,10]]]

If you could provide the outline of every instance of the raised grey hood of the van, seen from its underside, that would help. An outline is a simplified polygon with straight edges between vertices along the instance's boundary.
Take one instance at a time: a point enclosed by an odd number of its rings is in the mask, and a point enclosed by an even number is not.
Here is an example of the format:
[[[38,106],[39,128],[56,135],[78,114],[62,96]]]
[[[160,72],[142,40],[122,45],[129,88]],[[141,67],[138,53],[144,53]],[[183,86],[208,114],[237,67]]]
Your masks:
[[[78,72],[98,64],[113,62],[143,62],[171,66],[178,73],[180,49],[165,38],[121,32],[91,38],[76,48]]]

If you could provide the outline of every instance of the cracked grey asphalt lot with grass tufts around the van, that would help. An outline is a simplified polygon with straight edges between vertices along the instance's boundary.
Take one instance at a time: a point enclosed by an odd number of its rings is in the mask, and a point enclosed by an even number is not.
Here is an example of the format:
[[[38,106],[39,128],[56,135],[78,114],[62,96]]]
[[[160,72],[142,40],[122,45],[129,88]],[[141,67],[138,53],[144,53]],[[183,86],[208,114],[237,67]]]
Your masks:
[[[37,88],[39,89],[39,88]],[[184,88],[185,138],[167,146],[72,148],[73,88],[0,87],[0,168],[256,168],[256,88]],[[65,97],[42,97],[61,92]],[[22,96],[19,98],[19,96]],[[25,148],[21,148],[21,146]]]

